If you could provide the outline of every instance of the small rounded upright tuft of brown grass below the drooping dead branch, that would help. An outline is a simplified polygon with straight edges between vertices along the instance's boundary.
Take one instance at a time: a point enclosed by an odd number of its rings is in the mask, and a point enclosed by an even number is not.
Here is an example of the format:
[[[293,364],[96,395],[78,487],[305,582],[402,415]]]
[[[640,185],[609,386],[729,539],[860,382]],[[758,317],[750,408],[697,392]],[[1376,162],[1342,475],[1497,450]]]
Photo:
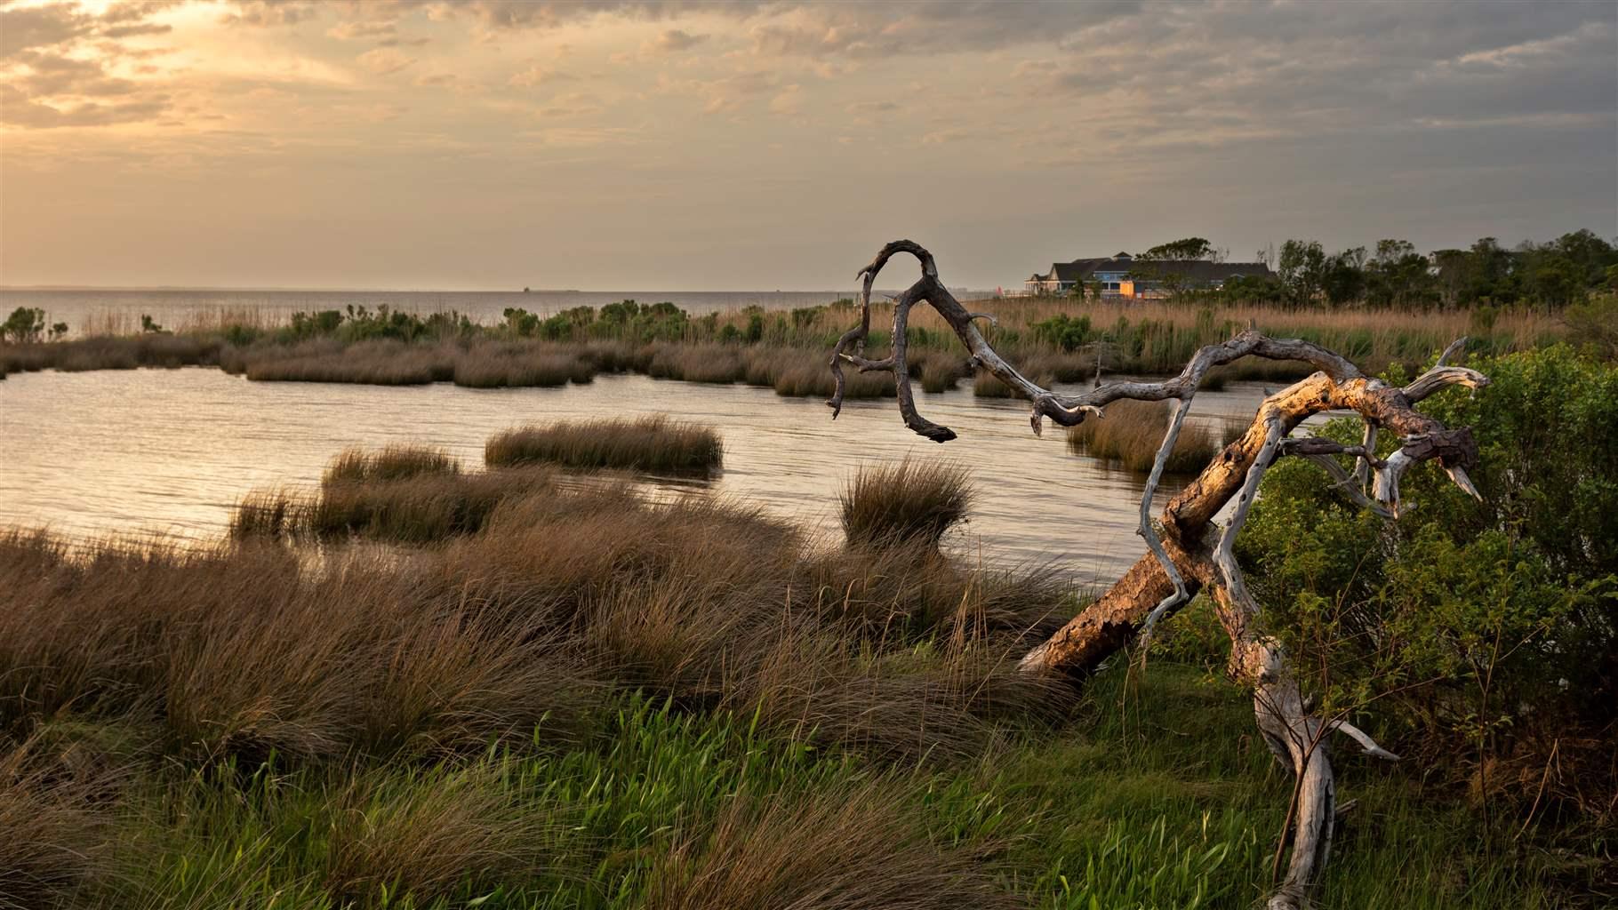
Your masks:
[[[959,464],[906,457],[861,466],[838,501],[853,545],[922,540],[937,546],[943,532],[966,520],[972,488]]]

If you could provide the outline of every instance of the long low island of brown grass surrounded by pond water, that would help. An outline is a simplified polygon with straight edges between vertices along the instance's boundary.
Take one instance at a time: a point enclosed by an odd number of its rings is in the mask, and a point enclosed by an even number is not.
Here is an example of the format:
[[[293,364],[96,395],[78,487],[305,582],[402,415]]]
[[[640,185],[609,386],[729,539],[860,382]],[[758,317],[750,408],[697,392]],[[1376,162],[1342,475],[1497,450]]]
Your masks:
[[[637,419],[561,422],[506,430],[484,446],[490,467],[560,464],[563,467],[693,474],[723,462],[717,432],[662,414]]]

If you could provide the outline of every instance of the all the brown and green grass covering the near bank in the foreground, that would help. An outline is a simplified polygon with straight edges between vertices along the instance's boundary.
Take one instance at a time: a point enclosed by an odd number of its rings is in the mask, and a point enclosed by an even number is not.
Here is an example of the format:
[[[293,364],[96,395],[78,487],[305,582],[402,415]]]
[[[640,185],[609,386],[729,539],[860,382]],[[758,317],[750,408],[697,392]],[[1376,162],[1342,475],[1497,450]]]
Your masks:
[[[320,496],[406,508],[314,551],[252,520],[199,550],[0,533],[5,900],[1084,910],[1270,883],[1290,782],[1231,735],[1210,613],[1165,622],[1150,677],[1018,672],[1084,596],[938,553],[958,466],[858,470],[820,543],[414,446],[340,453]],[[371,540],[411,545],[345,543]],[[1341,773],[1370,821],[1333,904],[1578,887],[1464,782]]]

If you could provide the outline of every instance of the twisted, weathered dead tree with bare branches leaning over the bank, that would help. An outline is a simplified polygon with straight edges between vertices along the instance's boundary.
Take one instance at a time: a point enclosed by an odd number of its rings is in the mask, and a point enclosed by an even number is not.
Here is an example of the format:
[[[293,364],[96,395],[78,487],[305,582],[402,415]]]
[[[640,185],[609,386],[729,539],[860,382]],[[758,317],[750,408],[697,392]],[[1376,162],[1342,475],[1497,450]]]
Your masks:
[[[877,273],[895,254],[908,252],[921,260],[921,280],[893,301],[893,349],[887,357],[867,359],[866,338],[870,330],[870,286]],[[1332,831],[1338,815],[1332,763],[1325,748],[1327,734],[1336,731],[1354,739],[1369,755],[1396,760],[1369,735],[1345,721],[1322,721],[1311,714],[1298,680],[1286,664],[1280,645],[1257,629],[1259,605],[1243,582],[1233,543],[1247,520],[1247,511],[1259,491],[1259,482],[1275,459],[1301,456],[1317,461],[1345,495],[1385,517],[1398,517],[1400,477],[1413,464],[1437,459],[1463,490],[1477,496],[1466,469],[1476,462],[1477,446],[1468,428],[1448,430],[1416,411],[1416,402],[1435,391],[1463,385],[1482,388],[1489,380],[1476,370],[1445,365],[1459,348],[1451,344],[1438,364],[1416,381],[1398,388],[1366,377],[1333,351],[1296,338],[1267,338],[1254,330],[1230,341],[1199,349],[1178,377],[1158,383],[1120,381],[1099,385],[1084,394],[1055,394],[1019,373],[984,339],[976,320],[993,317],[972,314],[938,281],[932,254],[911,241],[895,241],[882,247],[859,275],[859,325],[838,339],[832,352],[832,375],[837,391],[827,404],[832,417],[843,406],[843,365],[861,372],[892,372],[898,385],[900,414],[916,433],[945,443],[955,432],[940,427],[916,411],[906,364],[904,330],[911,307],[930,304],[966,346],[971,364],[989,370],[1016,390],[1031,404],[1031,422],[1037,435],[1048,419],[1074,427],[1086,419],[1102,419],[1103,407],[1118,399],[1176,402],[1168,432],[1163,435],[1157,461],[1141,495],[1137,533],[1149,553],[1142,556],[1112,588],[1087,606],[1061,630],[1023,659],[1029,672],[1061,672],[1082,677],[1123,648],[1134,635],[1149,632],[1158,619],[1173,614],[1201,590],[1209,588],[1220,622],[1231,638],[1230,669],[1233,677],[1252,689],[1259,731],[1277,760],[1296,776],[1293,808],[1293,852],[1286,878],[1270,897],[1273,910],[1307,905],[1332,847]],[[1314,375],[1269,396],[1259,406],[1252,425],[1202,470],[1163,509],[1160,525],[1150,516],[1152,495],[1163,475],[1163,466],[1175,448],[1180,430],[1191,411],[1191,401],[1209,369],[1239,360],[1302,360],[1315,367]],[[1364,441],[1345,446],[1324,438],[1291,438],[1290,433],[1312,414],[1353,411],[1366,423]],[[1375,454],[1377,435],[1395,433],[1401,444],[1382,461]],[[1353,456],[1356,469],[1343,470],[1335,456]],[[1374,480],[1372,480],[1374,478]],[[1367,485],[1369,495],[1367,495]],[[1215,529],[1214,516],[1236,498],[1235,511],[1223,529]]]

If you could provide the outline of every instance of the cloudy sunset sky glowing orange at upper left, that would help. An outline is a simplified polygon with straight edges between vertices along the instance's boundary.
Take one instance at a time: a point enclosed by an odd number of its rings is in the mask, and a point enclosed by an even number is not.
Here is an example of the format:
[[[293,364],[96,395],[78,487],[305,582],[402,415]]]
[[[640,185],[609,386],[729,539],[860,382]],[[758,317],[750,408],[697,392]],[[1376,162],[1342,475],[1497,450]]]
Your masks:
[[[1578,228],[1618,234],[1610,0],[0,0],[0,284],[830,289],[909,238],[995,288]]]

